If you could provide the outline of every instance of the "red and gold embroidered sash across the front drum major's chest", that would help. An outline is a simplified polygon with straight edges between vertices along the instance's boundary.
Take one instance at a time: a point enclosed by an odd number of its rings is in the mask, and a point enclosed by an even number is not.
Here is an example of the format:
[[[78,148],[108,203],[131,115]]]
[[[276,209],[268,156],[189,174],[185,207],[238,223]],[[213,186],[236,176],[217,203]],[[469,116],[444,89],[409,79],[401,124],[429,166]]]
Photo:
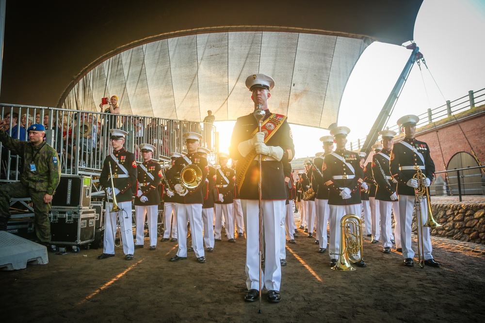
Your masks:
[[[273,137],[279,127],[286,120],[286,116],[282,114],[272,113],[271,116],[263,121],[261,124],[261,131],[264,132],[264,143],[268,143],[269,139]],[[259,127],[254,129],[251,138],[259,131]],[[246,176],[246,172],[251,165],[251,162],[256,157],[256,151],[253,149],[249,154],[244,157],[244,159],[238,161],[236,164],[236,184],[238,185],[238,190],[241,191],[242,182]]]

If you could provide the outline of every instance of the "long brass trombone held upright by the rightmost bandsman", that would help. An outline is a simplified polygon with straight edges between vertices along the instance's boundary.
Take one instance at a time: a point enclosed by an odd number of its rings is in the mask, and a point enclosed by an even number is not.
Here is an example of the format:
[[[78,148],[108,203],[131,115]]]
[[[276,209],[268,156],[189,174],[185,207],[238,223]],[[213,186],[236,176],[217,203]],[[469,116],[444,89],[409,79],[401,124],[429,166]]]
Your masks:
[[[441,224],[437,223],[433,218],[433,213],[431,212],[431,203],[429,201],[429,190],[428,187],[424,185],[424,181],[426,180],[426,176],[423,174],[419,166],[416,167],[416,174],[414,174],[413,179],[418,182],[418,187],[414,189],[414,197],[416,200],[414,201],[414,208],[416,210],[416,221],[418,224],[418,230],[420,231],[418,236],[418,263],[420,268],[424,268],[424,241],[423,241],[423,227],[441,227]],[[421,202],[423,199],[427,199],[427,207],[428,207],[428,218],[426,223],[422,223],[422,210],[421,210]]]

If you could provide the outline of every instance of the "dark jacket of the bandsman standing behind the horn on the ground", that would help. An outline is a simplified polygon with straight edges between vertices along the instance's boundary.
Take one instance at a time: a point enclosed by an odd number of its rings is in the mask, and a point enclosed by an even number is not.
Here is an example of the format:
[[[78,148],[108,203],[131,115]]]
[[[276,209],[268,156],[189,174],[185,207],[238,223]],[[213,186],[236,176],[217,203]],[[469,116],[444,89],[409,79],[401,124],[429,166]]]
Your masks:
[[[345,162],[350,164],[354,171],[334,154],[339,155],[340,158],[344,158]],[[360,184],[363,182],[364,169],[357,153],[348,150],[336,150],[332,154],[325,155],[322,172],[324,184],[330,189],[328,204],[360,204]],[[351,198],[343,200],[340,196],[341,190],[339,187],[349,188],[351,190]]]

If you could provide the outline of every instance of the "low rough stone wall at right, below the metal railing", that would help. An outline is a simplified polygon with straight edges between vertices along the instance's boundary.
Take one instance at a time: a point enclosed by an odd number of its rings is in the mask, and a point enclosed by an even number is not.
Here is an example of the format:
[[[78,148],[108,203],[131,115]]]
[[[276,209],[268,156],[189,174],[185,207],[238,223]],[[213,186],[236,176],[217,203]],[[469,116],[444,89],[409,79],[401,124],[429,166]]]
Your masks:
[[[432,228],[432,235],[485,245],[485,203],[432,204],[431,210],[442,225]]]

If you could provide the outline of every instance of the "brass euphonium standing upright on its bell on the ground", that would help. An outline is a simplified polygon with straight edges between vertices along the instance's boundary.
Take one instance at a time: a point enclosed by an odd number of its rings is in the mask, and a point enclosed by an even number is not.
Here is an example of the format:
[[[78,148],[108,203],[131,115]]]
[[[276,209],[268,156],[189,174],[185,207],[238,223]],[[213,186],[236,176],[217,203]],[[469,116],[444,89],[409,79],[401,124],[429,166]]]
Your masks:
[[[350,262],[362,260],[362,220],[355,214],[344,215],[340,220],[340,249],[337,264],[332,267],[337,271],[354,271]],[[360,255],[359,255],[360,253]],[[355,258],[358,258],[355,260]]]

